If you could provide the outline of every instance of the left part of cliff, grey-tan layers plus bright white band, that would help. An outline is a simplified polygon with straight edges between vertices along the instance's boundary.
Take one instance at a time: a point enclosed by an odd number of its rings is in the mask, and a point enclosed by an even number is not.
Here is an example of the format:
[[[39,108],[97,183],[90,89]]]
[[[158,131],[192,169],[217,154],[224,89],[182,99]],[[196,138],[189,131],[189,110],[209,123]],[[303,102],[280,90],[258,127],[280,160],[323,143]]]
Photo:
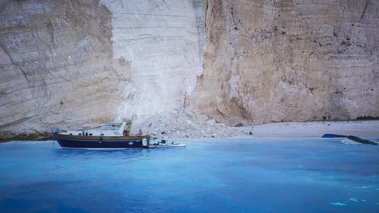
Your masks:
[[[0,139],[182,108],[202,17],[201,0],[0,0]]]

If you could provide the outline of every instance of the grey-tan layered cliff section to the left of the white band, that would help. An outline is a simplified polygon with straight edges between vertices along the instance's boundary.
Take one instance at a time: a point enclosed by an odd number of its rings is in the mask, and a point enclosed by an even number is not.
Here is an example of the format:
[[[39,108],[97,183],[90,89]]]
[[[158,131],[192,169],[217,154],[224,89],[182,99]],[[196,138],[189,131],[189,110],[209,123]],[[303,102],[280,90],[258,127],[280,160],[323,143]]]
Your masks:
[[[1,140],[114,119],[111,20],[98,0],[0,0]]]

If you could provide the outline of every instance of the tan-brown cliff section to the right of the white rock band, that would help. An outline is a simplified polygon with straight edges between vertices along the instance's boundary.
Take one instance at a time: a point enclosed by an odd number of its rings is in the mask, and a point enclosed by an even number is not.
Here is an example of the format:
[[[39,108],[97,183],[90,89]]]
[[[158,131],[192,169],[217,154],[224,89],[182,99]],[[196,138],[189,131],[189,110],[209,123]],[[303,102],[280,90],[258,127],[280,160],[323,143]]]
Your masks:
[[[377,0],[204,0],[189,106],[228,125],[379,116]],[[201,116],[200,116],[201,117]]]

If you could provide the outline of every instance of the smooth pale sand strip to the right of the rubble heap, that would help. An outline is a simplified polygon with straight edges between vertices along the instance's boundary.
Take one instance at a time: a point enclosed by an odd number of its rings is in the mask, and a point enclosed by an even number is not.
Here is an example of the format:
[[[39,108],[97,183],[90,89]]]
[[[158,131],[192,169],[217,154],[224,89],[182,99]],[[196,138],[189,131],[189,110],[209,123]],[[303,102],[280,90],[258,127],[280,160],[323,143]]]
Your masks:
[[[325,121],[267,123],[252,127],[238,127],[251,131],[252,138],[311,138],[326,133],[379,137],[379,121]]]

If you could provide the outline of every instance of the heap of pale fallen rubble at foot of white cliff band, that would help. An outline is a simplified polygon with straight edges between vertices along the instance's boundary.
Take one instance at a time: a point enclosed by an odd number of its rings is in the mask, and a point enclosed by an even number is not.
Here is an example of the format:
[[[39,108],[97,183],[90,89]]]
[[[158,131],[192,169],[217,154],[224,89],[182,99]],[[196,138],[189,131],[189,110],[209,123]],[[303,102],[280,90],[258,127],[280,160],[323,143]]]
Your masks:
[[[152,123],[150,129],[149,124]],[[247,138],[249,132],[240,128],[218,124],[206,116],[197,117],[188,109],[164,112],[134,124],[132,132],[139,130],[156,137],[167,138]],[[162,134],[164,132],[164,134]]]

